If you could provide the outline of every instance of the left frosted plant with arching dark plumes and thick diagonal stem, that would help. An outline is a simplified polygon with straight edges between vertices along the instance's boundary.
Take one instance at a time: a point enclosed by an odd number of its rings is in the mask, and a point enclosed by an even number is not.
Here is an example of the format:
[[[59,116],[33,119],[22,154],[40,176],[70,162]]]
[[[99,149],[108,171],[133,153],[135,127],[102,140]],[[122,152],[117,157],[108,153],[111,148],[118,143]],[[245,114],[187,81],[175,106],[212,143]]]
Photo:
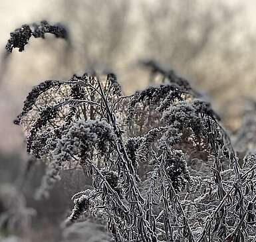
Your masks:
[[[108,78],[108,81],[114,82],[112,78]],[[131,231],[129,236],[133,239],[157,241],[156,233],[152,230],[147,220],[146,211],[144,210],[145,200],[142,198],[140,190],[138,189],[134,166],[132,160],[128,158],[124,146],[122,130],[116,123],[114,113],[118,108],[118,101],[122,99],[122,97],[119,96],[120,93],[116,91],[118,86],[115,84],[106,84],[105,87],[103,87],[99,78],[96,76],[83,76],[82,78],[74,76],[68,82],[57,85],[59,90],[64,86],[71,88],[68,97],[64,100],[58,99],[57,103],[54,105],[48,105],[43,111],[39,111],[39,117],[36,119],[35,123],[30,125],[28,129],[28,133],[31,133],[28,139],[30,148],[28,151],[35,152],[37,145],[41,143],[40,141],[44,141],[45,143],[51,142],[49,149],[45,149],[46,153],[44,155],[49,156],[53,154],[53,164],[56,165],[53,166],[53,168],[56,167],[57,169],[54,170],[57,172],[54,174],[59,174],[59,169],[64,166],[64,163],[71,161],[75,161],[77,164],[80,164],[82,168],[87,169],[88,173],[92,174],[94,189],[98,190],[99,194],[102,194],[102,202],[106,204],[105,209],[109,218],[109,230],[112,232],[113,237],[118,238],[118,241],[128,236],[126,234],[127,231]],[[82,88],[90,88],[90,95],[94,93],[94,101],[87,99],[86,95],[88,96],[88,92],[84,93],[84,99],[81,95],[82,93],[78,93],[78,97],[77,92],[72,91],[73,87],[81,89],[80,91],[84,90]],[[55,88],[55,86],[50,87],[50,89],[51,88]],[[113,92],[111,91],[112,88],[114,88]],[[37,88],[35,90],[37,90]],[[49,91],[49,88],[45,91]],[[37,90],[35,95],[28,96],[27,102],[30,102],[30,97],[33,98],[31,99],[31,104],[28,106],[29,110],[25,109],[24,113],[19,116],[19,123],[26,122],[26,115],[31,112],[31,109],[34,108],[38,99],[41,98],[43,94],[44,91],[41,92]],[[64,126],[58,126],[59,123],[54,122],[55,119],[59,119],[59,115],[61,114],[59,111],[64,111],[67,107],[70,108],[69,110],[72,110],[71,108],[77,108],[83,104],[86,105],[86,110],[89,109],[91,111],[91,107],[94,107],[93,115],[91,115],[94,119],[87,120],[87,115],[84,115],[84,112],[82,112],[79,116],[83,114],[84,119],[79,117],[78,120],[71,120],[68,123],[64,123]],[[56,112],[52,113],[52,110],[56,110]],[[97,117],[96,111],[98,111]],[[66,118],[67,117],[64,117],[64,121]],[[49,131],[47,131],[48,129],[45,130],[45,127],[51,125],[51,123],[53,123],[54,126],[53,131],[49,133]],[[39,140],[36,141],[36,134],[39,132],[43,133],[38,136]],[[45,133],[47,133],[47,135],[43,135]],[[52,138],[55,134],[58,136],[57,142],[52,142]],[[107,143],[109,143],[108,149],[103,149],[104,145]],[[108,153],[112,154],[113,160]],[[42,154],[43,152],[40,152],[40,155]],[[100,161],[101,157],[104,157],[106,172],[103,172],[100,170],[100,166],[97,167],[94,164],[94,158],[98,158]],[[108,158],[112,160],[112,164],[109,164],[110,160],[108,160]],[[111,172],[111,169],[118,169],[118,175],[122,176],[124,196],[128,204],[130,204],[130,208],[127,208],[127,205],[122,202],[120,197],[122,193],[118,192],[118,190],[116,190],[117,188],[111,184],[110,180],[105,178],[104,174]],[[51,174],[53,174],[53,172],[51,172]],[[54,177],[51,176],[50,180],[52,181],[53,179]],[[47,181],[47,179],[45,180]],[[90,210],[90,205],[88,204],[89,200],[86,194],[80,194],[80,196],[74,200],[75,206],[69,221],[72,222],[77,219],[82,215],[84,210]],[[110,210],[110,208],[112,208],[112,210]],[[120,216],[124,221],[122,221],[122,219],[120,220]]]

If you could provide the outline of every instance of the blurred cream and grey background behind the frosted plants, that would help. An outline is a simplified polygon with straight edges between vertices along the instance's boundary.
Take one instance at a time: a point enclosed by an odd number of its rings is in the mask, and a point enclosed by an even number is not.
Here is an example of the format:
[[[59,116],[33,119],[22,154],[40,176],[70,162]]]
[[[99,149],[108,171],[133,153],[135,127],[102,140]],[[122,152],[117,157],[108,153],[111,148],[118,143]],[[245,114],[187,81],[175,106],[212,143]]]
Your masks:
[[[255,97],[255,11],[254,0],[1,0],[2,53],[9,32],[41,20],[66,25],[71,46],[47,34],[45,40],[31,38],[25,52],[14,50],[1,59],[0,196],[8,186],[15,194],[13,184],[27,159],[23,132],[13,119],[28,91],[42,80],[68,79],[90,68],[112,70],[129,94],[149,84],[149,73],[138,61],[156,60],[205,93],[225,127],[237,132],[247,99]],[[49,200],[37,202],[33,192],[44,170],[38,166],[23,191],[23,205],[37,215],[19,236],[24,241],[60,241],[59,223],[72,206],[70,197],[86,181],[79,173],[64,174]]]

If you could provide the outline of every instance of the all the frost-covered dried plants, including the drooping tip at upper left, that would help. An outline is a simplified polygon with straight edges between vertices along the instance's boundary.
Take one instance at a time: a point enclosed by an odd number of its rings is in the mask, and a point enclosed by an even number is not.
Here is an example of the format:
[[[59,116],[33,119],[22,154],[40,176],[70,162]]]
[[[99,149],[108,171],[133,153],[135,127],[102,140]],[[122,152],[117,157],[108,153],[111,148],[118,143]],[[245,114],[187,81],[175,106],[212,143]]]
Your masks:
[[[65,35],[42,26],[34,36]],[[22,51],[30,36],[27,25],[15,30],[7,50]],[[47,80],[27,95],[15,124],[27,152],[48,164],[37,198],[49,196],[62,169],[77,168],[92,189],[72,197],[66,237],[96,223],[106,225],[102,241],[255,241],[256,153],[239,160],[219,116],[187,80],[142,64],[162,84],[127,97],[114,74],[92,72]]]

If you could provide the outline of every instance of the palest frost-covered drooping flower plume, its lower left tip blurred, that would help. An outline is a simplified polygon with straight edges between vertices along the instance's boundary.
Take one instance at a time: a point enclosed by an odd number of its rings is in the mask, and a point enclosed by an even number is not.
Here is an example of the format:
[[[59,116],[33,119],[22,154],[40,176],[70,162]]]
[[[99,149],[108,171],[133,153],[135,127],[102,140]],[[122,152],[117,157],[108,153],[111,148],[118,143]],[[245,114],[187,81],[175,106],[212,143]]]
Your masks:
[[[47,173],[35,194],[37,200],[49,197],[49,190],[61,179],[59,172],[66,162],[74,158],[92,158],[94,146],[104,154],[110,147],[109,142],[116,140],[112,127],[100,120],[77,121],[64,133],[66,135],[59,139],[53,152],[53,161],[47,167]]]

